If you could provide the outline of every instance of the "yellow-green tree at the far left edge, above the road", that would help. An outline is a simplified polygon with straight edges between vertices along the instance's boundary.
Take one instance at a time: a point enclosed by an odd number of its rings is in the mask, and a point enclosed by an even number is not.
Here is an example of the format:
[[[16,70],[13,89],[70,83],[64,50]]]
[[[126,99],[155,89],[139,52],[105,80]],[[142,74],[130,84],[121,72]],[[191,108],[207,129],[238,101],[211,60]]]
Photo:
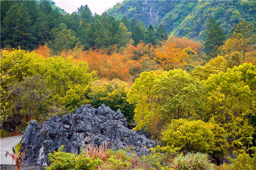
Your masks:
[[[42,57],[24,50],[1,50],[1,116],[8,121],[10,128],[15,131],[17,123],[22,118],[22,89],[15,84],[24,80],[27,76],[33,76],[37,63]]]

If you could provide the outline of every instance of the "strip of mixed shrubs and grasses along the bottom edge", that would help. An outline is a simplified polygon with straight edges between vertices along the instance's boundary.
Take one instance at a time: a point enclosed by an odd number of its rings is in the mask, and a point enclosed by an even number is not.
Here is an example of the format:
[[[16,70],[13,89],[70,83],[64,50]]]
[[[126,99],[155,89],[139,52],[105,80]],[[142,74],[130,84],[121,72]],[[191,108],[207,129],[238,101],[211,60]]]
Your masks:
[[[211,163],[206,153],[200,152],[154,152],[138,157],[125,149],[111,149],[108,143],[101,146],[88,145],[79,155],[62,152],[63,148],[62,145],[57,152],[49,153],[52,165],[47,170],[245,170],[242,166],[238,168],[239,161],[244,163],[249,159],[238,155],[238,159],[232,160],[234,164],[217,166]],[[255,170],[253,165],[251,167],[251,170]]]

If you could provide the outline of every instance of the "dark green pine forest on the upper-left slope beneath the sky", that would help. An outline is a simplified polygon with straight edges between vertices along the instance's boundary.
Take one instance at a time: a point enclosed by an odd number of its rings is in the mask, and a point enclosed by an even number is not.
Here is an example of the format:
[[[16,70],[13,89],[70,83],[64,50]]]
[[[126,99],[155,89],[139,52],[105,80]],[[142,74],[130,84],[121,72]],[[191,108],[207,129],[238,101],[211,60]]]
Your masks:
[[[73,49],[77,42],[84,49],[104,48],[111,51],[127,44],[137,45],[140,40],[158,44],[168,35],[163,26],[155,32],[153,26],[146,30],[141,22],[116,20],[106,12],[92,14],[87,5],[70,15],[60,9],[52,9],[54,2],[2,1],[1,2],[1,48],[33,50],[47,44],[55,52]],[[13,20],[13,18],[16,18]]]

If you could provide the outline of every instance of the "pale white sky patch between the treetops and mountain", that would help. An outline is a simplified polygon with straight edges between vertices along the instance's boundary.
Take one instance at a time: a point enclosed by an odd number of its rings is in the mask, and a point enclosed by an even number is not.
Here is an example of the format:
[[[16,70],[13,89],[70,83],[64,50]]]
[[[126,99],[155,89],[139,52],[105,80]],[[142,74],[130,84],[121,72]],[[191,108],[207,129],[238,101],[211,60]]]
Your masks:
[[[108,8],[112,8],[117,2],[122,0],[53,0],[55,5],[61,9],[64,9],[69,14],[75,12],[81,5],[88,5],[91,12],[101,15]]]

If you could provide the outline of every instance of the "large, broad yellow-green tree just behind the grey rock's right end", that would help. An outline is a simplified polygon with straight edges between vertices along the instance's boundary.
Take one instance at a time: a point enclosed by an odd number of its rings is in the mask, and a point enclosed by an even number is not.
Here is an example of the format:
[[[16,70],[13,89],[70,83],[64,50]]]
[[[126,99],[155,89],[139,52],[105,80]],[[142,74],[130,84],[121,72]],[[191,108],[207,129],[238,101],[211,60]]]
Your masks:
[[[190,77],[186,71],[151,71],[141,73],[140,78],[135,80],[127,101],[136,106],[136,129],[140,130],[144,126],[150,129],[151,126],[159,126],[159,123],[165,124],[172,119],[196,114],[201,106],[202,93],[199,81]]]

